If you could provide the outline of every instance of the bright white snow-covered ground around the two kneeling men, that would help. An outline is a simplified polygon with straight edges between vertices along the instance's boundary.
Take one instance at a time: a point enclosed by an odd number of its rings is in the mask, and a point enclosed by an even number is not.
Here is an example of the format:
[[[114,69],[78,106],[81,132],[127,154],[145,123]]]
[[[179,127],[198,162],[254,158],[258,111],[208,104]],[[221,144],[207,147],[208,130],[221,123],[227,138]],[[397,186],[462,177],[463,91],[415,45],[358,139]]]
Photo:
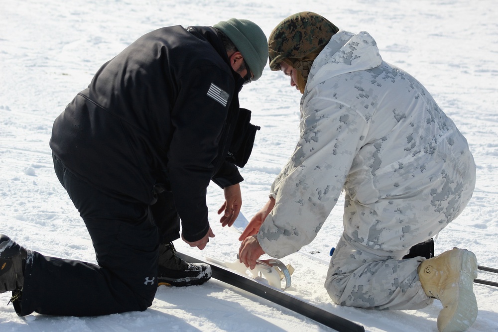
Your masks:
[[[308,4],[306,4],[308,2]],[[311,10],[340,28],[366,30],[381,55],[413,74],[467,137],[477,164],[474,196],[437,238],[436,253],[453,246],[498,267],[498,9],[495,0],[0,0],[0,233],[46,255],[95,262],[90,237],[60,186],[48,145],[52,123],[96,70],[142,34],[181,24],[213,25],[248,18],[269,35],[283,18]],[[261,126],[242,170],[243,212],[266,202],[269,186],[297,141],[300,94],[288,78],[265,68],[244,87],[241,106]],[[205,250],[181,251],[235,260],[239,234],[218,223],[221,190],[209,188],[216,237]],[[327,259],[342,232],[342,202],[310,245]],[[304,251],[309,248],[303,248]],[[377,312],[333,305],[323,288],[327,266],[293,254],[289,293],[365,326],[367,331],[437,331],[439,302],[418,311]],[[498,281],[480,273],[479,278]],[[78,287],[77,284],[74,287]],[[469,331],[498,331],[498,289],[475,285],[479,315]],[[18,318],[0,295],[7,331],[328,331],[324,326],[217,280],[160,287],[152,307],[95,318]],[[77,301],[77,299],[75,299]]]

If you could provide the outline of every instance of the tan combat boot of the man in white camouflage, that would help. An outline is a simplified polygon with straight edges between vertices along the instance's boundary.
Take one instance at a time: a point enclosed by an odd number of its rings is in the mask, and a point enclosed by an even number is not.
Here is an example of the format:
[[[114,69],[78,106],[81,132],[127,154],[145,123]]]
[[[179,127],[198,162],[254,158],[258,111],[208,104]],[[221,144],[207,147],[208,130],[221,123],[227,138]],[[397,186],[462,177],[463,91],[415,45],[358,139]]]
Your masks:
[[[466,331],[474,323],[477,317],[473,290],[477,258],[473,252],[456,247],[445,251],[422,262],[418,276],[425,294],[443,305],[437,318],[439,332]]]

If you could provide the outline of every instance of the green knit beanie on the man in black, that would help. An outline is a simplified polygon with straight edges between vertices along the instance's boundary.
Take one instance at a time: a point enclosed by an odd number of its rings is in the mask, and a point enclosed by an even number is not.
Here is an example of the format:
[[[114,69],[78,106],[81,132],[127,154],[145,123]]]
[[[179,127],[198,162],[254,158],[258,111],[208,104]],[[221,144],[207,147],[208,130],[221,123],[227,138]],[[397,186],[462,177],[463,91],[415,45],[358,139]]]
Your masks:
[[[254,75],[252,80],[260,78],[268,59],[268,42],[263,30],[248,19],[237,18],[221,21],[213,27],[223,31],[242,53]]]

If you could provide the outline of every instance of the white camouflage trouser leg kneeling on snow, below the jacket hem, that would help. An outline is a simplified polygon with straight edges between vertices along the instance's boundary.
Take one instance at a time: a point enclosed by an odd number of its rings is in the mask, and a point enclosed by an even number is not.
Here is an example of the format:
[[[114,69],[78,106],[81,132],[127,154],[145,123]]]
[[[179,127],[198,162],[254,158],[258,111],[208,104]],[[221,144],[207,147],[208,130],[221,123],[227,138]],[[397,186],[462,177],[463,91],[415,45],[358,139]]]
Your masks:
[[[342,235],[330,261],[325,288],[339,305],[378,310],[420,309],[432,303],[420,284],[424,257],[373,250]]]

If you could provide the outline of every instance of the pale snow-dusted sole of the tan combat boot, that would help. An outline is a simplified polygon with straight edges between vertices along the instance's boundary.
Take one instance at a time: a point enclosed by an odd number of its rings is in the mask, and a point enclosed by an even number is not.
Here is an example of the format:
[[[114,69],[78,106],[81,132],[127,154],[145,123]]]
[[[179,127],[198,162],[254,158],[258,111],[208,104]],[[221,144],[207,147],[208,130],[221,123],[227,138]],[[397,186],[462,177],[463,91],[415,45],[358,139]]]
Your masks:
[[[477,278],[477,258],[476,255],[465,249],[460,250],[461,272],[458,282],[458,305],[452,318],[445,327],[440,327],[438,320],[438,330],[440,332],[467,331],[477,318],[477,300],[474,294],[474,279]]]

